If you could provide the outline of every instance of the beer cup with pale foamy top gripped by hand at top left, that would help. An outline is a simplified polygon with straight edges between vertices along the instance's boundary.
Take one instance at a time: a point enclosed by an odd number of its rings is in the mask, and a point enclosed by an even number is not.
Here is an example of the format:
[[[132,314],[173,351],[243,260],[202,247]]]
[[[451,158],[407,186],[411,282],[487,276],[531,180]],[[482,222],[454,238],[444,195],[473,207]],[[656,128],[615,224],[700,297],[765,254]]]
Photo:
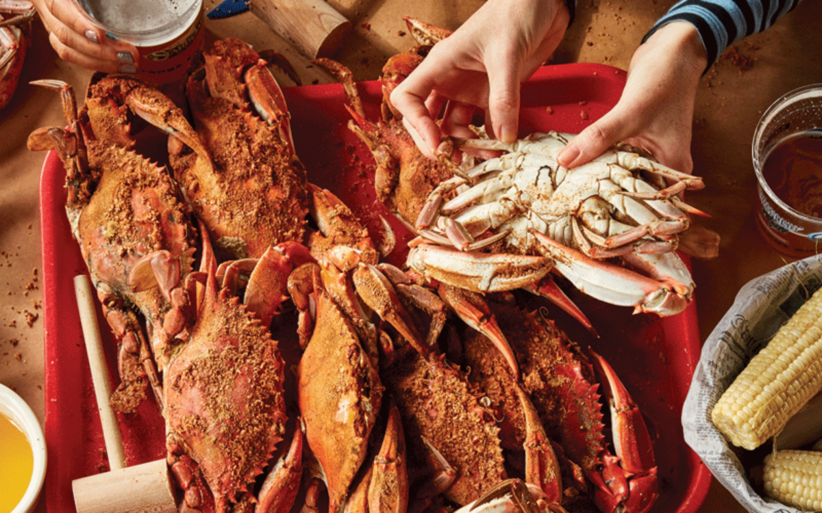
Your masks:
[[[138,76],[154,85],[181,80],[201,47],[203,0],[74,0],[91,23],[140,52]]]

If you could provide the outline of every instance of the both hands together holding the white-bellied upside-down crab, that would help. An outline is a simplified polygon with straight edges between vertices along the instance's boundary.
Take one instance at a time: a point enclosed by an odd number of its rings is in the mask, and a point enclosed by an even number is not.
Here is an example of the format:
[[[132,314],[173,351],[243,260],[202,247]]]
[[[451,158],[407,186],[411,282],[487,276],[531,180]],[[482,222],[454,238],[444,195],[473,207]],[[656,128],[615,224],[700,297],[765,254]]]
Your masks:
[[[473,137],[469,123],[475,108],[486,111],[489,135],[503,142],[515,139],[520,82],[550,57],[567,24],[562,2],[542,2],[537,8],[549,12],[525,16],[533,7],[515,0],[483,6],[432,48],[423,64],[391,94],[391,103],[428,157],[433,157],[442,135]],[[492,20],[500,16],[512,22],[487,30],[498,25]],[[485,67],[485,62],[494,65]],[[664,25],[637,48],[617,106],[582,131],[560,153],[559,162],[578,167],[625,141],[648,150],[668,167],[690,173],[691,120],[706,63],[693,25]],[[464,89],[469,80],[478,87]],[[438,125],[435,120],[447,100],[451,104]]]

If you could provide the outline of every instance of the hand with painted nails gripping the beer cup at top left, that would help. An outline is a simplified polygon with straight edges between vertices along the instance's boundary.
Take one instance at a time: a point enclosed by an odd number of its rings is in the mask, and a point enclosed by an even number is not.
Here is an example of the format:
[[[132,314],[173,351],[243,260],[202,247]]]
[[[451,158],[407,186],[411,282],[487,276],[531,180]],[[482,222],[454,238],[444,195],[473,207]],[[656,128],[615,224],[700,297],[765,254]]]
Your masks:
[[[72,0],[33,0],[58,56],[93,71],[135,73],[140,57],[133,44],[115,41],[93,25]]]

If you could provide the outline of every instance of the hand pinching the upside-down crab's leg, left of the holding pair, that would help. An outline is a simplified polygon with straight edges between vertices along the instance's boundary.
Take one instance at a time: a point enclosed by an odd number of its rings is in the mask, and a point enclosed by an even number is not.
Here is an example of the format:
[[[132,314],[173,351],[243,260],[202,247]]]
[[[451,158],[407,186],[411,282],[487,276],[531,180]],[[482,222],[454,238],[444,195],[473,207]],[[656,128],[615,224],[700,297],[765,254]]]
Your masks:
[[[438,42],[390,96],[423,153],[433,158],[442,134],[472,137],[469,123],[476,108],[486,113],[489,135],[514,142],[520,83],[551,56],[569,20],[561,0],[487,2]]]

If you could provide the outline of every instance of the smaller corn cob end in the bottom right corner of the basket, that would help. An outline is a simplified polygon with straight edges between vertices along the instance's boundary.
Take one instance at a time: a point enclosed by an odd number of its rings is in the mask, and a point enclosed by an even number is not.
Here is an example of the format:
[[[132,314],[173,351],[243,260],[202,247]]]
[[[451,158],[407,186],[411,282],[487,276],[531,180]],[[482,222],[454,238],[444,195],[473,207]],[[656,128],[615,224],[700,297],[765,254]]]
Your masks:
[[[822,452],[774,451],[764,463],[766,496],[802,511],[822,511]]]

